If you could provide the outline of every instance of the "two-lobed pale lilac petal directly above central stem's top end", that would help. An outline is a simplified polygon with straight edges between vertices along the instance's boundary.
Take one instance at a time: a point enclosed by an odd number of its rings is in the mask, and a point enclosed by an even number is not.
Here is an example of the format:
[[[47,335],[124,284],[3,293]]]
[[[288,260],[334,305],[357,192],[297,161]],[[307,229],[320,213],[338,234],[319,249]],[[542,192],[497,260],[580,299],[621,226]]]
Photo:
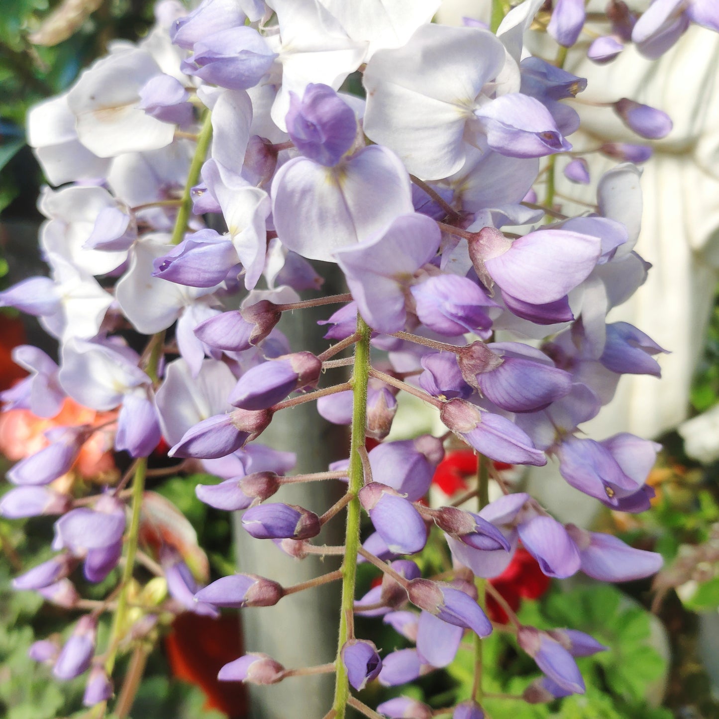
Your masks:
[[[373,329],[385,334],[403,329],[405,287],[440,242],[436,222],[413,213],[399,216],[367,242],[334,252],[359,313]]]

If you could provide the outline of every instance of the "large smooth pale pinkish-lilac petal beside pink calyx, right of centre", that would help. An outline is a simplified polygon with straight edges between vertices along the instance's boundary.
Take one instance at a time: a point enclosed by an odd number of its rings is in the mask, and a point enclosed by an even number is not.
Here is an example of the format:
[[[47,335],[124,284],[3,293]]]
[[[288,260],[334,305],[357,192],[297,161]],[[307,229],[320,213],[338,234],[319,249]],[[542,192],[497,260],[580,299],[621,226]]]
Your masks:
[[[520,237],[501,255],[485,257],[487,272],[503,291],[534,305],[556,302],[594,269],[598,237],[547,229]]]

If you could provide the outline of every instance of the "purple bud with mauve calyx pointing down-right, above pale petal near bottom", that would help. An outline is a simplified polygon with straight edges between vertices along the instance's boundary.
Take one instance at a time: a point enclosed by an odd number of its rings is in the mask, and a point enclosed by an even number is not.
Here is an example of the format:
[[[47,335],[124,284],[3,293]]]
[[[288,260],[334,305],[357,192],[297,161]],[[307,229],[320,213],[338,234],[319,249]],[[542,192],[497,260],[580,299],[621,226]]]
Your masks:
[[[454,626],[471,629],[477,636],[489,636],[492,623],[476,600],[461,590],[429,580],[412,580],[407,587],[413,605]]]

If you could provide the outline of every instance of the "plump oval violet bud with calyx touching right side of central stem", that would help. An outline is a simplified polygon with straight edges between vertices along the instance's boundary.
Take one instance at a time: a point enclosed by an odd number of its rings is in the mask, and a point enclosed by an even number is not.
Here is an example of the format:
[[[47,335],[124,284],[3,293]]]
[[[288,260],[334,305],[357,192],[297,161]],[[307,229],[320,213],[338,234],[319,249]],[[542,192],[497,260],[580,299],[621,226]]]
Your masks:
[[[427,541],[424,521],[412,503],[392,487],[370,482],[359,490],[359,502],[390,551],[414,554],[423,549]]]

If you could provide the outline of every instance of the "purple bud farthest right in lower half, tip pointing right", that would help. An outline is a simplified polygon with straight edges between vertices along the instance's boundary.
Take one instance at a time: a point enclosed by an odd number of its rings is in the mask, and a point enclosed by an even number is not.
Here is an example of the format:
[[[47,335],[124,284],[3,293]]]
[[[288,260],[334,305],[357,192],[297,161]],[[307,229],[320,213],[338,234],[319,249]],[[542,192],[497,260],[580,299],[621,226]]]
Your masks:
[[[580,550],[582,572],[600,582],[630,582],[659,572],[661,554],[634,549],[610,534],[587,532],[574,525],[567,531]]]

